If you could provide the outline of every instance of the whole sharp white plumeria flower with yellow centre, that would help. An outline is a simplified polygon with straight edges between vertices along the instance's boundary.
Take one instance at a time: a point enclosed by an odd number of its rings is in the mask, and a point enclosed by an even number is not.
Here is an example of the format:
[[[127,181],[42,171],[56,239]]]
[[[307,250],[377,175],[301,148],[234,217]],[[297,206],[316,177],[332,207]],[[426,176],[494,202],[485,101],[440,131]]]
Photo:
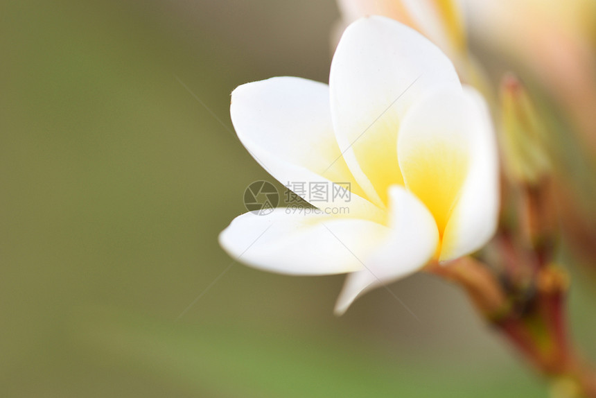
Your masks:
[[[241,85],[231,120],[279,182],[351,183],[349,214],[278,208],[238,216],[220,234],[231,257],[255,268],[348,273],[336,313],[430,261],[474,252],[496,228],[487,106],[462,87],[437,46],[392,19],[366,17],[347,28],[329,85],[292,77]]]

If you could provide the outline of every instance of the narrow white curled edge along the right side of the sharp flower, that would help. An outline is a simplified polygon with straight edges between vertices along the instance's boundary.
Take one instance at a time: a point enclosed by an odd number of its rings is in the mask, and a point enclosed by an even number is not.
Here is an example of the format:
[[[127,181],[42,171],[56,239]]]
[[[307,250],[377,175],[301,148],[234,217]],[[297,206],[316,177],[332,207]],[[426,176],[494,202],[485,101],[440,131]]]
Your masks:
[[[448,221],[439,260],[447,261],[481,248],[496,231],[499,213],[499,165],[496,137],[484,98],[464,87],[471,135],[470,172]]]

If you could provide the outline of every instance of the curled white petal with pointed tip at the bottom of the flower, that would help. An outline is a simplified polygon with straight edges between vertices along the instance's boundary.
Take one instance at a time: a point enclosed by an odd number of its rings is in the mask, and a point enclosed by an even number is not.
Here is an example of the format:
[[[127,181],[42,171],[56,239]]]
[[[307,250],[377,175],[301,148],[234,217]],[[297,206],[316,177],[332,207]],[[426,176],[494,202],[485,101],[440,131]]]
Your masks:
[[[344,313],[366,291],[419,270],[439,244],[437,225],[428,209],[403,187],[389,189],[390,229],[387,240],[363,262],[364,270],[348,275],[335,313]]]

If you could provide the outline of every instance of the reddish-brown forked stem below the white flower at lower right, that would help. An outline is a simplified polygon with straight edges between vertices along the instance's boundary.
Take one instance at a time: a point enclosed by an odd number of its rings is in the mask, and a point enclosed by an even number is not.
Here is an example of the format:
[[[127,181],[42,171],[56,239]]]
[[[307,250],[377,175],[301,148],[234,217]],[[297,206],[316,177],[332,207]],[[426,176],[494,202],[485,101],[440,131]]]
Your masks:
[[[520,296],[481,261],[464,257],[426,270],[461,286],[482,317],[532,365],[569,397],[596,398],[596,373],[581,361],[568,338],[568,278],[559,268],[541,268],[534,295]],[[525,303],[518,302],[525,297]]]

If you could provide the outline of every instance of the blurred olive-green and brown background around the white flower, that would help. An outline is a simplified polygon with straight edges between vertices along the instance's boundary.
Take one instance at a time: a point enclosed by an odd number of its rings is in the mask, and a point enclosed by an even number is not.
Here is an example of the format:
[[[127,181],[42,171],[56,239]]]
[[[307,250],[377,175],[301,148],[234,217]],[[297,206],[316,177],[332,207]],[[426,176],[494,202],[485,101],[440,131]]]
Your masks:
[[[419,320],[383,289],[335,318],[341,276],[219,248],[271,180],[229,93],[326,81],[337,18],[333,0],[0,3],[2,397],[545,396],[453,286],[392,285]],[[577,278],[593,357],[594,298]]]

